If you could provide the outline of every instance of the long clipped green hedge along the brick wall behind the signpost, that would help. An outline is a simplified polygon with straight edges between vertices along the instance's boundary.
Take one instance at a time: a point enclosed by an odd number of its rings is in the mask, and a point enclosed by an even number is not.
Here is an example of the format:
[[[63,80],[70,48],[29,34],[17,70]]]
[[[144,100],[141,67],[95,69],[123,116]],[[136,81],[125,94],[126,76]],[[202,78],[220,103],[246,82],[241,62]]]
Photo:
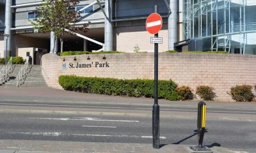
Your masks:
[[[59,83],[67,91],[80,91],[113,96],[154,98],[154,80],[122,80],[115,78],[93,78],[60,76]],[[177,84],[172,80],[159,80],[158,98],[179,100],[175,91]]]

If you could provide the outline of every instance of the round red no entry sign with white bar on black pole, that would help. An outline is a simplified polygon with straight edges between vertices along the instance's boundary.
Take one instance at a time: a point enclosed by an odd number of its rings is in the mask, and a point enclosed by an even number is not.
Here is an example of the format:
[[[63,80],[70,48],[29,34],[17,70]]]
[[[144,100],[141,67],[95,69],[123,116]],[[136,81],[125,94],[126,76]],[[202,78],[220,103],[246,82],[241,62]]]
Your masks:
[[[150,34],[157,34],[163,25],[163,19],[158,13],[152,13],[146,21],[146,29]]]

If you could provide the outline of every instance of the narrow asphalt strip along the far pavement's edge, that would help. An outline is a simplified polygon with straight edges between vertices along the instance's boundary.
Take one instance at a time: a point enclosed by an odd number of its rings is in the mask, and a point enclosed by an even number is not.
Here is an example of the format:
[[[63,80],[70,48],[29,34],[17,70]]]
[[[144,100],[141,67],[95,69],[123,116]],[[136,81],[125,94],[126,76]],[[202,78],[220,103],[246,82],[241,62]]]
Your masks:
[[[4,101],[0,102],[0,106],[34,106],[38,108],[42,107],[51,107],[51,108],[87,108],[87,109],[113,109],[113,110],[145,110],[145,111],[151,111],[152,106],[147,105],[111,105],[109,103],[106,104],[84,104],[84,103],[47,103],[47,102],[26,102],[26,101],[19,101],[19,102],[13,102],[13,101]],[[230,104],[232,105],[232,104]],[[168,106],[161,106],[161,111],[175,111],[175,112],[197,112],[196,105],[192,106],[186,106],[182,105],[168,105]],[[209,107],[207,108],[207,113],[234,113],[234,114],[245,114],[245,115],[256,115],[256,111],[248,109],[241,109],[241,108],[214,108]]]

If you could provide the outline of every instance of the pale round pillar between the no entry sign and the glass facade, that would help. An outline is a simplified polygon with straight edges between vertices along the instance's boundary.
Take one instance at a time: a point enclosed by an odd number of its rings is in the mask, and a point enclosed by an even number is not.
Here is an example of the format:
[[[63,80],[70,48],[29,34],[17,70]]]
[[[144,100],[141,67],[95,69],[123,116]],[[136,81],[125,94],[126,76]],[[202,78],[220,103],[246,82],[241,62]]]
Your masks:
[[[168,50],[174,50],[174,43],[177,42],[177,2],[170,0],[172,13],[168,17]]]

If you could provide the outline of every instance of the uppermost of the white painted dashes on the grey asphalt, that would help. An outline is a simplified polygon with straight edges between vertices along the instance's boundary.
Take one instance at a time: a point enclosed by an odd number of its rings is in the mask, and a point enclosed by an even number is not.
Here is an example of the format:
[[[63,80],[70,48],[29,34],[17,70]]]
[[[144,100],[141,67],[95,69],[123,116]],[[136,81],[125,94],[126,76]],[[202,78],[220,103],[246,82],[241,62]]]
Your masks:
[[[106,120],[92,117],[74,117],[74,118],[33,118],[29,119],[41,119],[41,120],[90,120],[90,121],[107,121],[107,122],[140,122],[139,120]]]

